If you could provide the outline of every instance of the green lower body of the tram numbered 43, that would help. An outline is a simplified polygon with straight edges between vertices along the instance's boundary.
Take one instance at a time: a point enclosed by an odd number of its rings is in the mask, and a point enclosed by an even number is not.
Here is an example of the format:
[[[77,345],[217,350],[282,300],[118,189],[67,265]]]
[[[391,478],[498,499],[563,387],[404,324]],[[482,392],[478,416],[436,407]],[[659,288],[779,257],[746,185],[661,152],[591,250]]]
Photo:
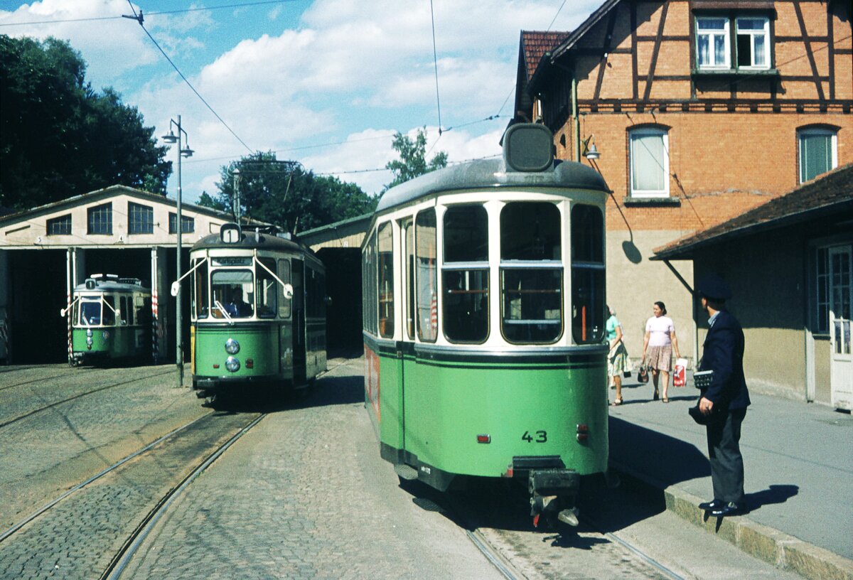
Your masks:
[[[378,403],[368,398],[368,405],[381,444],[458,475],[501,477],[514,457],[554,455],[580,475],[604,473],[605,357],[513,358],[456,363],[380,353]],[[583,442],[579,424],[589,428]],[[478,443],[478,435],[490,443]]]

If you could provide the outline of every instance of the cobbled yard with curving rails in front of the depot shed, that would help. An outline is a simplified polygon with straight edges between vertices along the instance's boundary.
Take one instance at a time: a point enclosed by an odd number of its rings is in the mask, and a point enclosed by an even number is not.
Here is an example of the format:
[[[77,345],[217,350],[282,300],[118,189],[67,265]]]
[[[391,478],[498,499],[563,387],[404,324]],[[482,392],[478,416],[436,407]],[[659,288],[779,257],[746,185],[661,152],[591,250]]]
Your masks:
[[[67,365],[4,369],[0,409],[6,417],[97,386],[122,384],[0,427],[0,531],[166,432],[209,412],[189,389],[174,388],[173,369]]]

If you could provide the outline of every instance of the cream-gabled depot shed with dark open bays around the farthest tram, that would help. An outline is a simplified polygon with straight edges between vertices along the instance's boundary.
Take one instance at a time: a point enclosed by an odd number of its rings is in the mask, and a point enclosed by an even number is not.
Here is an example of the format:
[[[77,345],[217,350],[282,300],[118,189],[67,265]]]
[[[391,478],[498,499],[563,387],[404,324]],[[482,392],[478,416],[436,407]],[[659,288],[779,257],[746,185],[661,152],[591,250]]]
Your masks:
[[[186,203],[181,214],[185,271],[189,247],[232,217]],[[121,185],[0,217],[0,363],[64,361],[60,310],[71,289],[97,273],[151,288],[154,359],[174,361],[176,248],[177,201]],[[189,312],[189,293],[181,296]],[[183,327],[189,344],[189,316]]]

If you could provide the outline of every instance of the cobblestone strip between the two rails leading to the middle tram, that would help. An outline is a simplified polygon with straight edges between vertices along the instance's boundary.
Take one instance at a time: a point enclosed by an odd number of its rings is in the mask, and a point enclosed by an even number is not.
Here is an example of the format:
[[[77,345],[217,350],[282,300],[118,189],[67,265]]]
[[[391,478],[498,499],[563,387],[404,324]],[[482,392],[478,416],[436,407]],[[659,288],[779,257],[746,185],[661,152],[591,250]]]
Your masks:
[[[257,414],[212,414],[0,543],[0,577],[98,578],[165,493]]]

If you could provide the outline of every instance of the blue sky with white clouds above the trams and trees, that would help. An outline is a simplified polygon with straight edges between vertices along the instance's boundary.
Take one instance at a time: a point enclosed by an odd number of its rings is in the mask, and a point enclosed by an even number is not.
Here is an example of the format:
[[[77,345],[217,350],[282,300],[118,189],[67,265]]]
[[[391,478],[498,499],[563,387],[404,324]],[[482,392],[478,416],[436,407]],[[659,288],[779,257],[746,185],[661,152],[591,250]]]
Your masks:
[[[132,14],[127,0],[0,0],[0,33],[67,39],[92,86],[118,90],[156,136],[180,114],[195,151],[183,161],[185,200],[216,193],[220,167],[250,149],[373,194],[392,179],[370,170],[396,157],[395,131],[426,126],[431,155],[446,151],[451,163],[498,154],[514,105],[520,31],[571,31],[600,3],[433,0],[438,98],[429,0],[133,3],[227,127],[142,27],[121,18]],[[170,196],[176,187],[173,176]]]

